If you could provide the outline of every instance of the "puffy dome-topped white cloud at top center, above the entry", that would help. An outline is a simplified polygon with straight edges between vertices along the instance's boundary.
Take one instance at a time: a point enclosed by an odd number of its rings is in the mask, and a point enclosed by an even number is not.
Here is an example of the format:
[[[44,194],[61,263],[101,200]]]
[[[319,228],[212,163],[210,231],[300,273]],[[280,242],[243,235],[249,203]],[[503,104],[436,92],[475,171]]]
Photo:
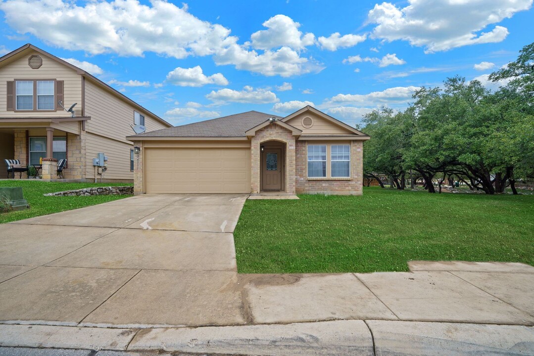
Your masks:
[[[311,33],[302,35],[299,22],[293,21],[286,15],[276,15],[263,22],[266,30],[260,30],[250,36],[255,49],[270,50],[286,46],[294,50],[301,50],[315,42]]]

